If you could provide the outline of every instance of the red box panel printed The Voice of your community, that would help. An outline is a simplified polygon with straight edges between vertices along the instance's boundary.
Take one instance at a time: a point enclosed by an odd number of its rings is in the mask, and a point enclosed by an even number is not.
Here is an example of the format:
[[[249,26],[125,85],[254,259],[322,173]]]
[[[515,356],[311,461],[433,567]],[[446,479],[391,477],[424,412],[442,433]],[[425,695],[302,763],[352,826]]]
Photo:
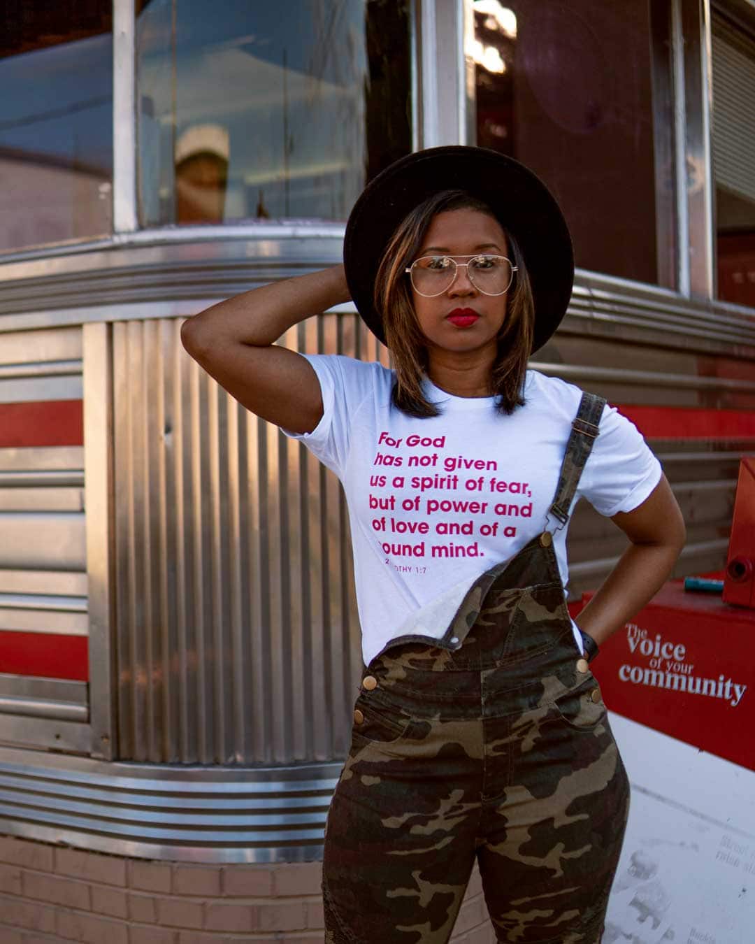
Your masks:
[[[591,668],[612,711],[755,770],[755,610],[667,583]]]

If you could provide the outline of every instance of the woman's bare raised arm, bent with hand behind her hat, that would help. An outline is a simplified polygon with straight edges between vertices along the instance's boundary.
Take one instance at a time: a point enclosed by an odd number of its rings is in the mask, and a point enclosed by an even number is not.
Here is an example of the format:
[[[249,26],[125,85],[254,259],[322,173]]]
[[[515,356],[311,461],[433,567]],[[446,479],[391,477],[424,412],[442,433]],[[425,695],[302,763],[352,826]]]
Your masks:
[[[320,384],[300,354],[275,345],[312,314],[349,300],[344,266],[234,295],[184,322],[181,341],[229,394],[262,419],[311,432],[323,415]]]

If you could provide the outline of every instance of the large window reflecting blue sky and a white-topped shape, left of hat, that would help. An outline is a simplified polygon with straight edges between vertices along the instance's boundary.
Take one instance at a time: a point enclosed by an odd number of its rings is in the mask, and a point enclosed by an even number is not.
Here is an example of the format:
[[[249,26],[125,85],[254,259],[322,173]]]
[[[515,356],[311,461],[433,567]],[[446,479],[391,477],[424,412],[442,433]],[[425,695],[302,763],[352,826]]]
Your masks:
[[[143,226],[348,215],[411,150],[409,0],[137,5]]]

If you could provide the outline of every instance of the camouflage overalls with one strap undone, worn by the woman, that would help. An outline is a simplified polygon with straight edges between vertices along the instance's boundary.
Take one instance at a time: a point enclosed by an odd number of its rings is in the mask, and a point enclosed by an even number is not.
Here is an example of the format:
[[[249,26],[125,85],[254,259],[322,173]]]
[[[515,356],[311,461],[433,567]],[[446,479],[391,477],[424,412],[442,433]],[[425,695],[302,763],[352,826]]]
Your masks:
[[[580,404],[566,512],[603,401]],[[367,668],[327,818],[327,944],[445,944],[477,858],[500,941],[597,944],[629,783],[550,531],[469,588],[445,635]]]

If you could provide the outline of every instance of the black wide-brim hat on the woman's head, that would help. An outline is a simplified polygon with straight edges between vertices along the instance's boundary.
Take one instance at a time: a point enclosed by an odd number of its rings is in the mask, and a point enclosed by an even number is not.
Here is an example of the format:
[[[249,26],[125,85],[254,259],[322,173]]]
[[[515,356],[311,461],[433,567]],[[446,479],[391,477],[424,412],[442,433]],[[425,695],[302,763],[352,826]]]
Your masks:
[[[452,145],[396,160],[364,188],[344,236],[346,282],[367,327],[385,344],[375,279],[401,221],[428,197],[462,190],[486,203],[522,251],[535,306],[532,350],[559,327],[572,294],[574,252],[558,203],[518,160],[485,147]]]

